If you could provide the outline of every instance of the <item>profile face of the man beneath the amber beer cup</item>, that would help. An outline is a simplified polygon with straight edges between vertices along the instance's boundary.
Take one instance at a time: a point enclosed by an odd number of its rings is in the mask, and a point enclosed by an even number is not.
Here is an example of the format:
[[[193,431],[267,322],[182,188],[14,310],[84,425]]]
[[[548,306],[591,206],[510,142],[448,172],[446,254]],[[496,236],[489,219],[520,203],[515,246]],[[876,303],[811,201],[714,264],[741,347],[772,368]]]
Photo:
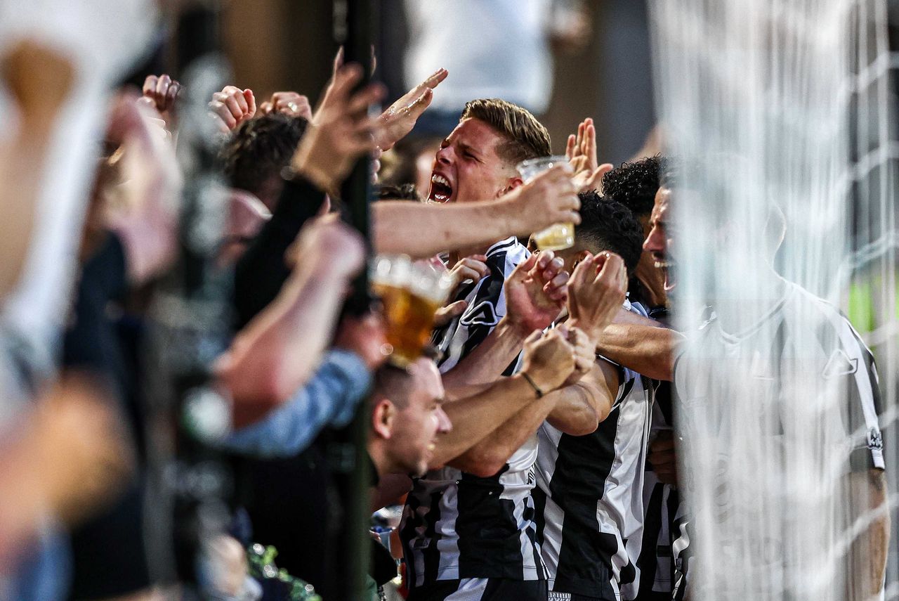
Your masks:
[[[398,409],[393,435],[392,454],[407,473],[421,476],[428,471],[437,435],[449,432],[452,424],[441,408],[443,383],[441,373],[431,359],[419,359],[408,367],[412,374],[408,404]]]

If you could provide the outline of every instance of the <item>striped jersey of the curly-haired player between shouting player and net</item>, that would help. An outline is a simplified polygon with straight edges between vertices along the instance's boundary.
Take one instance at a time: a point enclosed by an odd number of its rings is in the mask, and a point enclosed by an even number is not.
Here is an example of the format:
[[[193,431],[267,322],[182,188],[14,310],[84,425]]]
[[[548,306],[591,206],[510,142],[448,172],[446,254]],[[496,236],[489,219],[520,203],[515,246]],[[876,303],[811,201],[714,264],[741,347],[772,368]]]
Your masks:
[[[629,309],[645,315],[636,303]],[[595,432],[540,426],[533,492],[550,590],[608,601],[636,597],[654,387],[636,372],[619,372],[618,397]]]

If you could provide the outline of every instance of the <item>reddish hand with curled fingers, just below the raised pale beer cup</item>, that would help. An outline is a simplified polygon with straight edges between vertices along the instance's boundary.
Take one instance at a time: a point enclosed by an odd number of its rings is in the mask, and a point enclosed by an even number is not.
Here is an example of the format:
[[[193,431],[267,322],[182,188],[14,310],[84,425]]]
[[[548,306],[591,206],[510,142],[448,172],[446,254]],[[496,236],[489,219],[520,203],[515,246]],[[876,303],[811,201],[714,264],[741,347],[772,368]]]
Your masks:
[[[517,265],[503,283],[507,320],[524,334],[549,326],[565,307],[568,272],[562,257],[547,250]]]

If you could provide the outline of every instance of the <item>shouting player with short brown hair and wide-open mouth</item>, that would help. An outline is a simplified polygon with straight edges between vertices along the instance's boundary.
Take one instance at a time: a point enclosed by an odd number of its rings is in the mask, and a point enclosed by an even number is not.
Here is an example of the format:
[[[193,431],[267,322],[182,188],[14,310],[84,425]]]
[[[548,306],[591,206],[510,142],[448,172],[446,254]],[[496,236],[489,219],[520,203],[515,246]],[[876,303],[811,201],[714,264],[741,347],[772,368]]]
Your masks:
[[[549,152],[548,133],[529,112],[498,100],[473,101],[437,154],[429,198],[473,202],[499,196],[521,185],[515,171],[519,161]],[[527,316],[512,310],[533,283],[519,282],[521,271],[513,275],[515,265],[529,260],[527,249],[515,238],[488,248],[461,249],[458,254],[485,256],[488,273],[458,292],[456,301],[467,301],[467,309],[435,336],[445,352],[440,367],[450,399],[454,396],[454,372],[457,376],[459,370],[465,373],[457,381],[485,385],[503,371],[514,371],[524,337],[547,327],[560,309],[554,301],[544,299],[547,305],[540,308],[525,303]],[[588,278],[589,269],[603,261],[607,265],[601,274]],[[618,286],[623,294],[619,264],[618,257],[601,257],[595,262],[591,257],[584,263],[578,277],[590,292],[592,309],[598,306],[604,286]],[[505,280],[516,291],[509,297]],[[611,316],[609,309],[617,309],[620,299],[609,297],[598,311],[601,317],[582,318],[585,327],[601,323],[606,319],[604,312]],[[579,325],[573,321],[573,326]],[[592,345],[590,351],[592,363]],[[546,599],[530,498],[537,454],[535,432],[548,413],[560,406],[564,406],[560,411],[578,410],[581,407],[573,406],[583,405],[583,399],[570,399],[570,391],[544,395],[539,386],[534,388],[538,402],[522,406],[512,418],[494,424],[491,435],[451,458],[449,467],[432,470],[414,481],[401,526],[410,599]],[[461,396],[458,389],[455,396]],[[448,413],[452,406],[451,401],[446,404]],[[592,419],[595,429],[595,415]]]

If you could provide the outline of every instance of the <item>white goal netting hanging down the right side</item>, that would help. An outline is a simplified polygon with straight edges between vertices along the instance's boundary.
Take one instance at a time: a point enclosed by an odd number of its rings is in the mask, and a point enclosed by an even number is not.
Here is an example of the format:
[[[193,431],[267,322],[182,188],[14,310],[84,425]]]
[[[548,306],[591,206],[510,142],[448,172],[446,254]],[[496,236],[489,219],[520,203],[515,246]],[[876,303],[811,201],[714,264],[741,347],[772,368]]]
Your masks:
[[[886,0],[651,7],[673,306],[693,332],[675,382],[691,598],[878,595],[877,465],[899,461]]]

